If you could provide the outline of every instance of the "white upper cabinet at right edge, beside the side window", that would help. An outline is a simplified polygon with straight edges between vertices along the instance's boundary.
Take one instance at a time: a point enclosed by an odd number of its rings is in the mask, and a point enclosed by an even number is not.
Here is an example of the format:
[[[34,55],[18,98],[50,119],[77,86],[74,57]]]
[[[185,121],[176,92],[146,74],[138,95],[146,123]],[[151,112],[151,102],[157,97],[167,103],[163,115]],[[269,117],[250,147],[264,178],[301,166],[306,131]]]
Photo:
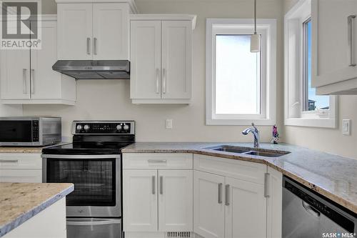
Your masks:
[[[357,94],[357,1],[312,0],[312,86]]]

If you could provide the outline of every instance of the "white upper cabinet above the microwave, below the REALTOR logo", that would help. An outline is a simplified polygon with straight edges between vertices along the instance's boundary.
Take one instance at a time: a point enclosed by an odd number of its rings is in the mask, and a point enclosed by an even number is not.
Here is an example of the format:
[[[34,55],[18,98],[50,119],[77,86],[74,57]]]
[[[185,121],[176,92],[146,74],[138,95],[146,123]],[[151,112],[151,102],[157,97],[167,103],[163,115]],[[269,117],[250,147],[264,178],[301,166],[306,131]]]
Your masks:
[[[52,70],[57,60],[56,17],[42,16],[41,32],[41,49],[1,52],[3,104],[75,103],[76,81]]]

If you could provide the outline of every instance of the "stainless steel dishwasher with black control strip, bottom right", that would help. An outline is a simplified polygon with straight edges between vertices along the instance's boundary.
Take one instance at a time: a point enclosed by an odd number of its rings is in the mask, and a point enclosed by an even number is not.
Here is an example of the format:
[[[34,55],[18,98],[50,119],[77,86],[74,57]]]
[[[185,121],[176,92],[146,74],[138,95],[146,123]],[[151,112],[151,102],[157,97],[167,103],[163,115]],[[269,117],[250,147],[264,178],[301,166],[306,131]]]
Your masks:
[[[283,237],[356,237],[357,215],[283,177]]]

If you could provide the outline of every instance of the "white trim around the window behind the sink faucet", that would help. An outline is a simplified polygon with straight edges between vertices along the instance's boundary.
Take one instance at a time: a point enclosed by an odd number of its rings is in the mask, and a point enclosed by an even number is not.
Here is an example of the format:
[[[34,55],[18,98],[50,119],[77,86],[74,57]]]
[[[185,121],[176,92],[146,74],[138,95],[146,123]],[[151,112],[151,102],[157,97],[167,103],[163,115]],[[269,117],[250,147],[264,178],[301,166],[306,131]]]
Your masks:
[[[260,115],[226,115],[214,114],[215,92],[214,92],[214,42],[215,34],[213,26],[244,26],[253,33],[253,19],[207,19],[206,20],[206,124],[207,125],[256,125],[276,124],[276,19],[257,19],[258,34],[266,37],[266,69],[262,68],[262,82],[266,90],[262,92],[261,109],[265,113]],[[265,72],[265,73],[264,73]],[[263,75],[264,74],[264,75]],[[265,78],[265,80],[264,80]],[[263,89],[263,86],[262,86]]]

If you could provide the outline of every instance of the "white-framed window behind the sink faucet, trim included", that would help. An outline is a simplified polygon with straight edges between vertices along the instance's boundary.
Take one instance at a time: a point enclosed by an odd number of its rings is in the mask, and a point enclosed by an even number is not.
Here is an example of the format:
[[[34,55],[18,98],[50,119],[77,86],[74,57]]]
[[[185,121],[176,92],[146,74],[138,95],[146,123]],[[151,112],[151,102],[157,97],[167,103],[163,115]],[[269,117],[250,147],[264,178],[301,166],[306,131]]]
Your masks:
[[[261,52],[251,53],[250,19],[207,19],[206,124],[275,124],[276,20],[258,20]]]

